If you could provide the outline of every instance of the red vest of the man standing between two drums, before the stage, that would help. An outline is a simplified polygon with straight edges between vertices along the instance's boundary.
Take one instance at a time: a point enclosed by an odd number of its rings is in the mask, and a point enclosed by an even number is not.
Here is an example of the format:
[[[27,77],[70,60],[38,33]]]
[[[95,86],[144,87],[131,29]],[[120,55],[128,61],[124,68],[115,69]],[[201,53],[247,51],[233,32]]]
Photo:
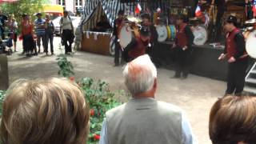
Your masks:
[[[182,26],[178,26],[178,29],[177,29],[177,35],[176,35],[177,46],[181,48],[188,45],[188,39],[185,33],[186,25],[187,25],[186,23],[183,23]]]

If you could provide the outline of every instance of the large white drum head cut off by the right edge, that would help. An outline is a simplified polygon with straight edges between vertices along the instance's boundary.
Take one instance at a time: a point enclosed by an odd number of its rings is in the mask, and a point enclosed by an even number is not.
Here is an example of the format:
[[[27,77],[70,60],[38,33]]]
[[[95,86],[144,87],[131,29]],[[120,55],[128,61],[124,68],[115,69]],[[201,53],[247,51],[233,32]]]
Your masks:
[[[246,52],[251,58],[256,58],[256,30],[251,32],[246,39]]]

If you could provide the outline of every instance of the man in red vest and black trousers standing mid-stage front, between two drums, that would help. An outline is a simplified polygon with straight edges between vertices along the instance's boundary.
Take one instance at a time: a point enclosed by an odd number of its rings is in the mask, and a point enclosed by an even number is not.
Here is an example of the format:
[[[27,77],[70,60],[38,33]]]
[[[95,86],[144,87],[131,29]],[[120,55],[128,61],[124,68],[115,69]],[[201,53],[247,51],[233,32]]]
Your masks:
[[[176,61],[177,67],[173,78],[187,78],[189,74],[190,57],[192,53],[192,43],[194,41],[194,34],[192,33],[190,26],[185,22],[184,15],[178,15],[176,25],[176,39],[172,48],[176,49]]]

